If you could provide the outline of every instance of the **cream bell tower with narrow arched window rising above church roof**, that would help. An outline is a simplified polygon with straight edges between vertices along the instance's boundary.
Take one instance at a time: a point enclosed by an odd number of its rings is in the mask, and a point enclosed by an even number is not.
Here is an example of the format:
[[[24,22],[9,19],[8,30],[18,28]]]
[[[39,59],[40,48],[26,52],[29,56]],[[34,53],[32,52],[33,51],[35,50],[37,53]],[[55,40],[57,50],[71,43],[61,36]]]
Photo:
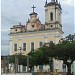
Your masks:
[[[45,2],[45,29],[60,29],[62,30],[61,22],[62,8],[58,0]]]

